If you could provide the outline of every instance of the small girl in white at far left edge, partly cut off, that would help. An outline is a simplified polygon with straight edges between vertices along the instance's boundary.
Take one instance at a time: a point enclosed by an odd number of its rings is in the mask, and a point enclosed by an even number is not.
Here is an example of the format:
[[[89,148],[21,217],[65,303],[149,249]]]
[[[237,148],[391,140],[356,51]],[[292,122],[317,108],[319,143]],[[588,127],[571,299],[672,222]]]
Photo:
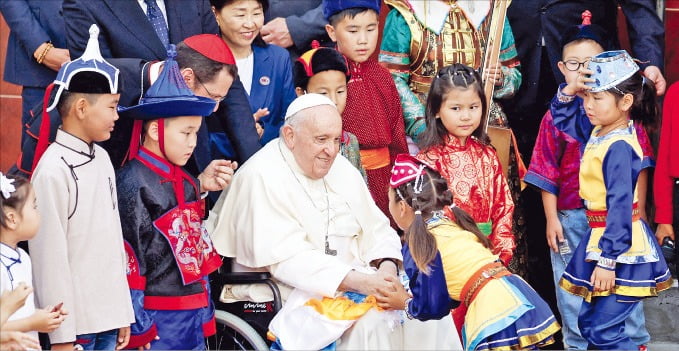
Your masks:
[[[20,241],[32,239],[40,223],[35,192],[28,180],[0,173],[0,211],[0,287],[32,290],[31,259],[17,246]],[[28,332],[37,339],[37,332],[48,333],[58,328],[66,314],[61,306],[35,308],[31,293],[2,329]]]

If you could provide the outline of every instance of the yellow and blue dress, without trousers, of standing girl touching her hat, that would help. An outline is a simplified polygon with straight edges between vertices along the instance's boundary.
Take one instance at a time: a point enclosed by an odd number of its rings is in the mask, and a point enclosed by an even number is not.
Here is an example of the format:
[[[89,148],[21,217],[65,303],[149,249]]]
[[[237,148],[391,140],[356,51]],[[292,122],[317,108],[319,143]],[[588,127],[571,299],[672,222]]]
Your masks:
[[[653,231],[639,217],[636,177],[642,169],[643,154],[636,131],[630,122],[627,128],[598,136],[600,128],[592,129],[586,115],[567,114],[573,108],[578,105],[560,103],[558,99],[552,103],[554,122],[559,129],[572,136],[586,135],[584,132],[591,130],[580,166],[580,196],[585,201],[592,229],[575,250],[559,284],[587,302],[594,296],[611,294],[633,298],[657,296],[670,287],[672,277]],[[560,116],[575,117],[565,120]],[[584,125],[586,130],[576,125]],[[614,162],[629,168],[614,167]],[[594,292],[590,284],[600,258],[617,263],[612,291]]]

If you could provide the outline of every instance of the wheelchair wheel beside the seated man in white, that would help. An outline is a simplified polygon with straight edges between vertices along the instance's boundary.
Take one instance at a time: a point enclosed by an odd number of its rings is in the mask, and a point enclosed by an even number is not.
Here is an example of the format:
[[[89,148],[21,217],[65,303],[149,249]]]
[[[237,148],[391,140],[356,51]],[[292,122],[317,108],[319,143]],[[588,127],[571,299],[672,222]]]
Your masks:
[[[217,334],[208,339],[211,350],[268,350],[264,339],[247,322],[229,312],[216,310]]]

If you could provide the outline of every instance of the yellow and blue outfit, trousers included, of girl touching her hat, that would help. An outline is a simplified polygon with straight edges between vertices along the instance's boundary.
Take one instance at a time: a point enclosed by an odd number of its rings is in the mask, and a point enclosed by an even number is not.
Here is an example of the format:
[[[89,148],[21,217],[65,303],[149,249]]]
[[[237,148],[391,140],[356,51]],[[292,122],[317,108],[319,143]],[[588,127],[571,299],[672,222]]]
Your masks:
[[[618,73],[630,77],[629,71],[634,74],[636,69],[629,66]],[[610,89],[618,88],[610,85]],[[550,112],[559,130],[587,143],[580,164],[579,194],[591,229],[575,249],[559,285],[584,298],[578,325],[589,347],[634,348],[633,335],[623,329],[625,320],[642,298],[657,296],[672,283],[653,231],[640,218],[637,177],[644,156],[636,130],[629,121],[623,128],[602,134],[602,127],[590,123],[575,96],[561,91],[552,100]],[[615,272],[610,290],[595,291],[591,280],[597,268]]]

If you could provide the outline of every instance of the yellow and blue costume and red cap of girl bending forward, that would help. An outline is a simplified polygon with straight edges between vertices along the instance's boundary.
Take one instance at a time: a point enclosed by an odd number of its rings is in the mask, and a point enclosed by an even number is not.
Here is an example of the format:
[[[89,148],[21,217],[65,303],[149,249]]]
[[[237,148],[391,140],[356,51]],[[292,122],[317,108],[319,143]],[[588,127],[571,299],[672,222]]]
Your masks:
[[[412,182],[413,192],[421,191],[425,167],[430,166],[399,155],[391,187]],[[418,269],[408,244],[402,249],[413,296],[408,314],[420,320],[438,319],[463,303],[467,307],[462,329],[465,350],[530,349],[554,342],[559,324],[549,306],[498,262],[475,234],[452,222],[443,211],[435,211],[426,225],[437,247],[429,272]]]

